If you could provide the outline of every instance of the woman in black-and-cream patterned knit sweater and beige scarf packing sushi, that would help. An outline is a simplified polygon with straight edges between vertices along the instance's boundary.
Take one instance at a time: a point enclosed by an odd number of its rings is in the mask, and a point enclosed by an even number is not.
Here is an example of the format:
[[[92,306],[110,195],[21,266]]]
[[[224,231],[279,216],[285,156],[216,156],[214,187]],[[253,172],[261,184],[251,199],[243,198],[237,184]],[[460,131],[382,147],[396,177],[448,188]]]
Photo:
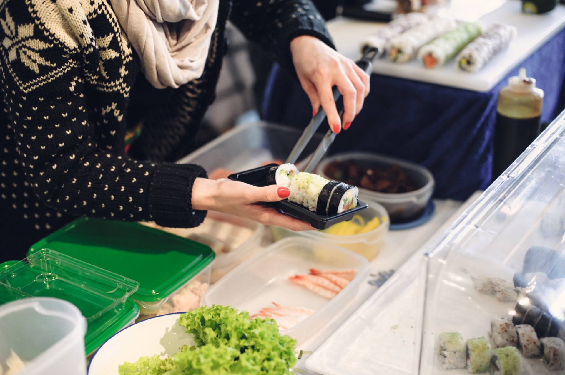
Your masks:
[[[217,210],[310,228],[257,203],[288,188],[208,180],[202,167],[167,162],[214,100],[228,19],[297,76],[333,131],[350,126],[368,77],[332,49],[309,0],[0,2],[0,261],[80,215],[194,227]]]

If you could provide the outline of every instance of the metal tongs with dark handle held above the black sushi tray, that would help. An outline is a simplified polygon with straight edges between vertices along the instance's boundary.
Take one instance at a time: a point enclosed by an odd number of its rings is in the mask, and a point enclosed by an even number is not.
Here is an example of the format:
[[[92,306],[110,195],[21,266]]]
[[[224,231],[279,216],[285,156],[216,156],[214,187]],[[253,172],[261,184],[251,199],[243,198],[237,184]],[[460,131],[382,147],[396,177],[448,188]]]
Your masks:
[[[357,65],[361,69],[363,69],[364,72],[366,72],[367,74],[370,75],[372,73],[372,70],[373,70],[372,61],[375,60],[375,58],[377,57],[378,54],[379,54],[379,48],[376,48],[376,47],[367,48],[367,50],[363,54],[363,58],[361,58],[359,61],[357,61]],[[340,98],[340,96],[341,96],[340,91],[337,89],[337,87],[334,87],[333,88],[333,101],[337,102],[337,100]],[[341,113],[341,114],[343,114],[343,113]],[[308,142],[310,142],[310,139],[312,139],[312,136],[316,133],[316,130],[318,130],[318,127],[320,127],[320,124],[322,123],[322,121],[324,121],[325,117],[326,117],[325,111],[324,111],[323,108],[320,107],[320,110],[318,111],[318,113],[316,113],[315,116],[312,117],[312,120],[310,121],[308,126],[306,126],[306,129],[304,129],[304,131],[302,132],[302,135],[298,139],[298,142],[294,145],[294,148],[290,152],[290,155],[288,156],[288,158],[286,158],[286,161],[285,161],[286,163],[294,164],[298,160],[298,157],[300,157],[302,151],[304,151],[304,149],[306,148],[306,145],[308,144]],[[340,117],[341,117],[341,115],[340,115]],[[330,130],[330,132],[331,132],[331,130]],[[331,138],[331,140],[328,143],[328,147],[333,142],[334,138],[335,138],[335,136],[333,136]],[[327,140],[327,139],[324,137],[324,140]],[[322,143],[324,143],[324,140],[322,140]],[[328,138],[328,140],[329,140],[329,138]],[[317,155],[316,153],[318,152],[319,149],[320,149],[320,146],[318,147],[318,149],[316,149],[316,152],[314,153],[314,155],[312,155],[312,159],[316,157],[316,155]],[[327,148],[324,149],[324,153],[322,154],[322,156],[325,154],[325,151],[327,151]],[[318,163],[316,162],[316,164],[318,164]],[[308,166],[310,166],[310,162],[308,162]],[[314,164],[314,166],[315,166],[315,164]]]

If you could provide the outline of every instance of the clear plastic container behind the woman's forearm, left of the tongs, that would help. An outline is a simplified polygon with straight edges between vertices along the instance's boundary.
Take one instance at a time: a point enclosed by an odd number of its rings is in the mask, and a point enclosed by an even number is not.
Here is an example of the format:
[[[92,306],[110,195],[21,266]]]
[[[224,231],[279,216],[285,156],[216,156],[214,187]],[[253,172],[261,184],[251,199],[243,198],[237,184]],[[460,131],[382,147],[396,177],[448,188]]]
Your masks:
[[[178,162],[201,165],[208,174],[220,168],[240,172],[273,160],[286,160],[301,134],[302,130],[294,127],[250,123],[234,127]],[[323,136],[312,136],[302,155],[314,152]]]

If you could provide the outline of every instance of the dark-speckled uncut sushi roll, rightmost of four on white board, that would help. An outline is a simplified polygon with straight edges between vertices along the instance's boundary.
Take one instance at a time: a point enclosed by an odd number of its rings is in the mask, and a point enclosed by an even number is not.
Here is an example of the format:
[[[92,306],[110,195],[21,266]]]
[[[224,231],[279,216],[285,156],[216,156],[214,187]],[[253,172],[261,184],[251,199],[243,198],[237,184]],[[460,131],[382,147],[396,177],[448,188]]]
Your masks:
[[[457,56],[457,67],[464,72],[478,72],[494,55],[507,48],[514,38],[515,27],[500,23],[492,25],[463,48]]]

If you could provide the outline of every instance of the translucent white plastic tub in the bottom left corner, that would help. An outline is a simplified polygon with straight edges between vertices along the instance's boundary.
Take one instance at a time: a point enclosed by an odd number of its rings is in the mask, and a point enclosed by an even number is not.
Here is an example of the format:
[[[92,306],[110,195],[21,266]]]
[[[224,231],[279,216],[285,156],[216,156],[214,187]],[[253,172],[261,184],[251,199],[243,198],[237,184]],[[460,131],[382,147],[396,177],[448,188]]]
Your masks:
[[[0,372],[12,351],[24,362],[18,375],[85,375],[86,320],[58,298],[24,298],[0,306]],[[10,361],[11,361],[10,360]]]

